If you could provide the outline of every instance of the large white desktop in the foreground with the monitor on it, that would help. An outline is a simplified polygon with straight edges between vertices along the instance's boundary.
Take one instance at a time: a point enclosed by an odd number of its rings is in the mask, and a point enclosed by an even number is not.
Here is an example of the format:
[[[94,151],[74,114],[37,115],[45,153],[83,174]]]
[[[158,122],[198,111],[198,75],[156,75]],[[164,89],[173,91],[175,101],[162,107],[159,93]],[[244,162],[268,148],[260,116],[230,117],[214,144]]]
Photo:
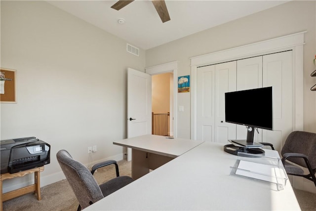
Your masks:
[[[204,142],[85,210],[300,210],[289,181],[275,191],[230,175],[236,160],[223,144]]]

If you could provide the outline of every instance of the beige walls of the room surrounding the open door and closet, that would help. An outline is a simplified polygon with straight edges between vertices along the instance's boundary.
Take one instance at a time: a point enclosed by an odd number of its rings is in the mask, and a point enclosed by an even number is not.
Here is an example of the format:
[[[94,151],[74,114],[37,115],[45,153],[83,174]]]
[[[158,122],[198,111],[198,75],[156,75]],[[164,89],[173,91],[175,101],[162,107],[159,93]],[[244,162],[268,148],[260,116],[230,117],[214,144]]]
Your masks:
[[[51,164],[41,184],[58,181],[56,152],[67,149],[82,163],[117,159],[126,137],[127,67],[178,61],[178,76],[190,75],[190,57],[296,32],[305,34],[304,127],[316,130],[316,2],[291,1],[275,8],[170,42],[140,56],[126,42],[45,1],[0,1],[1,64],[17,70],[16,104],[0,104],[0,139],[37,136],[51,144]],[[131,43],[133,44],[133,43]],[[178,137],[190,138],[190,92],[179,93]],[[176,112],[176,111],[175,111]],[[87,147],[98,151],[87,154]],[[4,192],[31,177],[4,182]],[[9,188],[8,188],[9,187]]]

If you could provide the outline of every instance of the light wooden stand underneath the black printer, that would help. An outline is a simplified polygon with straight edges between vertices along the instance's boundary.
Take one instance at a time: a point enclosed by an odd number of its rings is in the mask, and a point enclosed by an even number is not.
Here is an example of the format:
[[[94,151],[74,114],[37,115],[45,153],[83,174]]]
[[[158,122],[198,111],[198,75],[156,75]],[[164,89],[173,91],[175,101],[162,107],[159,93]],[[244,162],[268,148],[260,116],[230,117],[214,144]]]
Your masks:
[[[3,174],[1,174],[1,183],[0,183],[1,211],[2,211],[2,202],[9,200],[9,199],[12,199],[12,198],[15,198],[15,197],[18,197],[18,196],[22,196],[22,195],[30,193],[30,192],[36,193],[38,196],[38,200],[40,200],[41,199],[40,198],[40,171],[43,171],[43,170],[44,170],[44,167],[42,166],[39,168],[24,170],[24,171],[20,171],[20,172],[16,172],[16,173],[3,173]],[[19,176],[19,177],[25,176],[26,174],[29,174],[29,173],[34,173],[34,184],[2,194],[2,181],[3,180],[11,179],[11,178],[14,178],[17,176]]]

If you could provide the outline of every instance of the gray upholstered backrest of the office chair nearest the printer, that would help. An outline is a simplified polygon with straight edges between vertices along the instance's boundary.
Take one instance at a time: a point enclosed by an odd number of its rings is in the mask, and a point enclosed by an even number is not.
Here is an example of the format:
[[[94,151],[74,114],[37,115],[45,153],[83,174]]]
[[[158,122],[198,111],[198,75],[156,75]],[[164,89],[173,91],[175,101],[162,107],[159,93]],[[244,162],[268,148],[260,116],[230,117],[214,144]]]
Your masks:
[[[60,150],[56,156],[81,209],[104,198],[97,181],[83,164],[75,161],[66,150]]]

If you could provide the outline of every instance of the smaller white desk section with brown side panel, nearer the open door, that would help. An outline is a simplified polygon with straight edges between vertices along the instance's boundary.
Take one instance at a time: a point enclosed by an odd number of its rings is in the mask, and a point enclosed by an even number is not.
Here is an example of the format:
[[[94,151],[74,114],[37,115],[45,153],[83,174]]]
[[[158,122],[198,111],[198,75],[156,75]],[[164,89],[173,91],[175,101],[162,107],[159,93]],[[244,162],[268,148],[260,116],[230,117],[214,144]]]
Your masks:
[[[174,158],[201,144],[183,138],[167,138],[160,135],[142,135],[115,141],[113,144],[132,148],[132,178],[138,179]]]

